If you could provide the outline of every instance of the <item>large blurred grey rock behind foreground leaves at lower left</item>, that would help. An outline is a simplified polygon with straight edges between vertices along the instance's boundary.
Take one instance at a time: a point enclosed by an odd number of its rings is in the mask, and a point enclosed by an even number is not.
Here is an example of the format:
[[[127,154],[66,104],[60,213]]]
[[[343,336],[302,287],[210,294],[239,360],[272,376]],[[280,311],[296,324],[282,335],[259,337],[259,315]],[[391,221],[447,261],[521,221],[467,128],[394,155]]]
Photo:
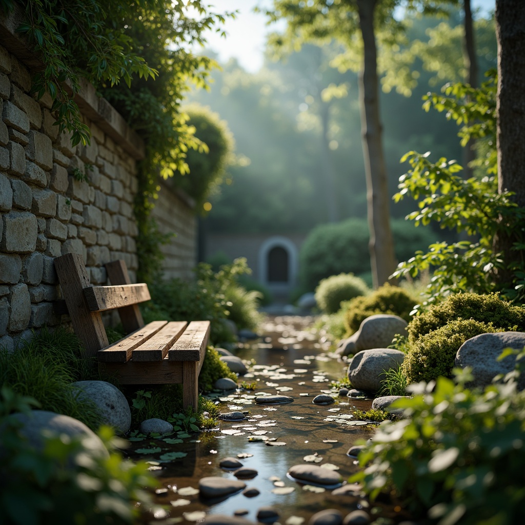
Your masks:
[[[81,438],[83,446],[92,454],[98,457],[109,457],[108,450],[97,434],[74,417],[46,410],[33,410],[28,415],[16,413],[7,418],[14,419],[22,424],[20,433],[37,450],[41,450],[44,446],[42,431],[49,430],[56,435],[66,434],[71,438]]]

